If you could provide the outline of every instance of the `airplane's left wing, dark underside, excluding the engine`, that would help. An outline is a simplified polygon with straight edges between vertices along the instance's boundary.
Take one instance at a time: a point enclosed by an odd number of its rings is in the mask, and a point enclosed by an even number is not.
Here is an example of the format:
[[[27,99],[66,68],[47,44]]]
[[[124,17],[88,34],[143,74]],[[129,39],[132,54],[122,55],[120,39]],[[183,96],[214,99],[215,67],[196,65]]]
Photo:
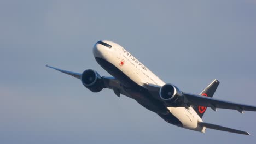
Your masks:
[[[72,71],[62,70],[62,69],[59,69],[59,68],[51,67],[49,65],[46,65],[46,67],[55,69],[57,71],[60,71],[61,73],[67,74],[67,75],[74,76],[77,79],[80,79],[81,76],[82,76],[81,73],[75,73],[75,72],[72,72]],[[119,80],[115,79],[114,77],[107,77],[107,76],[102,76],[101,79],[103,80],[104,88],[113,89],[115,95],[117,95],[118,97],[120,97],[120,94],[123,94],[123,95],[126,95],[127,97],[130,97],[130,95],[122,87],[121,82]]]

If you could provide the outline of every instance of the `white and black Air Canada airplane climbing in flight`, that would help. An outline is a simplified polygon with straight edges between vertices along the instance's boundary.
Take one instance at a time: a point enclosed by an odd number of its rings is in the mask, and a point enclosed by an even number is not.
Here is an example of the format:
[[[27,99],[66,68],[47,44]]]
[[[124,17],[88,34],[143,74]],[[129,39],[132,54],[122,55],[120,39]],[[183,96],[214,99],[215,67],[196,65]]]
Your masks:
[[[246,131],[231,129],[202,121],[207,107],[219,109],[256,111],[255,106],[232,103],[214,99],[219,81],[213,80],[200,94],[181,91],[171,83],[165,83],[145,67],[130,52],[117,43],[100,40],[93,47],[97,63],[113,77],[101,76],[97,71],[87,69],[83,73],[53,68],[62,73],[74,76],[91,92],[100,92],[103,88],[112,89],[120,97],[125,95],[136,100],[146,109],[155,112],[166,122],[185,129],[205,133],[206,128],[250,135]]]

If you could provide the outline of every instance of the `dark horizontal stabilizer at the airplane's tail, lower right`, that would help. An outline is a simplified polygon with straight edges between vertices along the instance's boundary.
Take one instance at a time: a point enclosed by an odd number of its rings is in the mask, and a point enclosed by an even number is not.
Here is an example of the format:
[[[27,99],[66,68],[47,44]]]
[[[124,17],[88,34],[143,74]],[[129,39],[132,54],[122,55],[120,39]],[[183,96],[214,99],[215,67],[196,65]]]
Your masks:
[[[216,124],[203,123],[203,122],[198,122],[198,124],[201,125],[202,127],[206,127],[206,128],[209,128],[209,129],[228,131],[230,133],[237,133],[237,134],[242,134],[242,135],[250,135],[246,131],[241,131],[241,130],[237,130],[237,129],[231,129],[231,128],[227,128],[227,127],[222,127],[222,126],[216,125]]]

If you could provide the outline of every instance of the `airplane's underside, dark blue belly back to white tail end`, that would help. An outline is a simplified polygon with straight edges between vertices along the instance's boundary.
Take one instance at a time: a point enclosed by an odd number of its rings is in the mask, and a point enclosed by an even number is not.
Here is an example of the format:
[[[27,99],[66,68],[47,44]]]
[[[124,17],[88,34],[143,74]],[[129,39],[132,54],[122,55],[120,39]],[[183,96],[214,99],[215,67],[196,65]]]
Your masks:
[[[143,107],[157,113],[168,123],[201,131],[202,128],[197,128],[197,119],[191,115],[190,112],[184,110],[184,107],[172,107],[172,109],[167,109],[162,101],[154,99],[146,88],[137,85],[137,83],[133,82],[123,71],[115,67],[115,65],[102,58],[96,57],[95,59],[110,75],[123,83],[125,91]]]

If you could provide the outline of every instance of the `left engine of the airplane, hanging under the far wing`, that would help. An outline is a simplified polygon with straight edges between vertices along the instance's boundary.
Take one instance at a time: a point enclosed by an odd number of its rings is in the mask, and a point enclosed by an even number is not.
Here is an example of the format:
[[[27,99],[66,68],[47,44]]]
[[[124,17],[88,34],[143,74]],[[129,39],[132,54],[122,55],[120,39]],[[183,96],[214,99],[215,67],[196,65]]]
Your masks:
[[[81,76],[83,85],[92,92],[100,92],[104,88],[102,77],[97,71],[88,69]]]

